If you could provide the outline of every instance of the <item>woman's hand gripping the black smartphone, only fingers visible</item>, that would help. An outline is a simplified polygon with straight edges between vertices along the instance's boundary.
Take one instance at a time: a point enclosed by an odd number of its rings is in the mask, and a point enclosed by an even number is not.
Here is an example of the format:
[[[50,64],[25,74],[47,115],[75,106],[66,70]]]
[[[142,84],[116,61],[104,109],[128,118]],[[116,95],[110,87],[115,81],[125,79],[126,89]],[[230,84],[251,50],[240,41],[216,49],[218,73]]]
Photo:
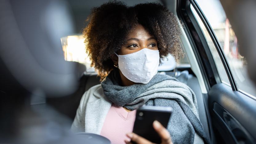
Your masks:
[[[155,131],[159,134],[160,138],[162,139],[161,144],[173,144],[171,136],[169,132],[166,130],[165,127],[162,126],[162,124],[158,121],[153,122],[153,127]],[[142,138],[141,136],[134,134],[134,133],[129,133],[126,134],[127,137],[129,137],[133,142],[136,142],[137,144],[152,144],[152,142],[148,141],[145,138]],[[126,141],[126,144],[132,144],[131,142]]]

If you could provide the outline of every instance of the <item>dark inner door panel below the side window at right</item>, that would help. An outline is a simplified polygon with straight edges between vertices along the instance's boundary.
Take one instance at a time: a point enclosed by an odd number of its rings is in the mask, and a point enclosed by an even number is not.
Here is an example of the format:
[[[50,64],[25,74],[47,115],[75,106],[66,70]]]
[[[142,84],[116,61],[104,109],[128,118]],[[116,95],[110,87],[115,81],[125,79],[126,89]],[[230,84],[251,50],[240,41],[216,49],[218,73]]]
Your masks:
[[[226,143],[254,143],[256,101],[230,86],[216,84],[209,91],[213,125]]]

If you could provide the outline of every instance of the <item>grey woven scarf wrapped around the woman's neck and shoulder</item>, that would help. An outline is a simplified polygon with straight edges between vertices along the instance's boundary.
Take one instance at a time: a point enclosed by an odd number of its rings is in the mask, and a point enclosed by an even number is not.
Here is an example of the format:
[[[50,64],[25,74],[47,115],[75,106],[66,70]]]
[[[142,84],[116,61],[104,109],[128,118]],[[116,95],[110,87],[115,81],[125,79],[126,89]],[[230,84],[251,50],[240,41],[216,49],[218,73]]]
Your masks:
[[[106,98],[117,106],[135,110],[142,105],[171,106],[172,116],[167,130],[172,136],[172,141],[178,143],[194,142],[197,132],[209,143],[198,116],[197,101],[194,92],[168,75],[156,74],[149,83],[136,83],[131,86],[121,86],[118,69],[114,69],[101,83]]]

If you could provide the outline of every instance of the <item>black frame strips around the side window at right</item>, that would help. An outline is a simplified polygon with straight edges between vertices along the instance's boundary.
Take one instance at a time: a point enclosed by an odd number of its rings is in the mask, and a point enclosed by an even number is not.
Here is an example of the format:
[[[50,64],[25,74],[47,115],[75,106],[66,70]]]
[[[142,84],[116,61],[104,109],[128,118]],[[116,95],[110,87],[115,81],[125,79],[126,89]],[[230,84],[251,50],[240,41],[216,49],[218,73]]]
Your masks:
[[[233,77],[229,63],[226,59],[226,56],[220,46],[220,43],[218,42],[218,39],[214,33],[214,30],[210,26],[201,8],[199,7],[199,5],[195,0],[180,0],[180,1],[177,1],[177,8],[178,8],[177,14],[178,14],[178,17],[184,23],[184,30],[189,37],[191,45],[193,45],[192,47],[195,54],[197,54],[196,57],[198,59],[198,63],[200,63],[201,65],[200,69],[204,73],[204,77],[207,79],[205,81],[206,85],[208,85],[207,90],[209,90],[214,84],[223,83],[223,82],[219,77],[218,70],[214,62],[213,56],[211,54],[210,48],[207,44],[206,38],[202,32],[201,27],[199,26],[196,18],[194,17],[194,14],[192,13],[190,4],[196,10],[198,16],[202,20],[202,23],[206,27],[206,30],[210,35],[210,38],[213,41],[213,44],[225,68],[232,90],[239,91],[235,83],[235,79]],[[205,56],[207,58],[205,58]]]

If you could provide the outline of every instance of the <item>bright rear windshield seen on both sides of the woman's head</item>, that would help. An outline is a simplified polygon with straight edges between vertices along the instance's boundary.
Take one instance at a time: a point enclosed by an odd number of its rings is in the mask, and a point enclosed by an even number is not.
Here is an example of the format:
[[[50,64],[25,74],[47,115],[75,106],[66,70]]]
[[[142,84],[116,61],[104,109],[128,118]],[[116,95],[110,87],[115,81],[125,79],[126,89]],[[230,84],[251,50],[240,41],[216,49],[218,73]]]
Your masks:
[[[85,51],[83,35],[71,35],[62,37],[61,43],[66,61],[74,61],[84,64],[86,66],[86,72],[95,71],[94,68],[90,66],[91,61]],[[170,71],[179,66],[190,67],[186,54],[184,55],[184,58],[179,59],[178,62],[175,62],[174,57],[169,54],[165,58],[161,59],[161,64],[158,68],[158,71]]]

